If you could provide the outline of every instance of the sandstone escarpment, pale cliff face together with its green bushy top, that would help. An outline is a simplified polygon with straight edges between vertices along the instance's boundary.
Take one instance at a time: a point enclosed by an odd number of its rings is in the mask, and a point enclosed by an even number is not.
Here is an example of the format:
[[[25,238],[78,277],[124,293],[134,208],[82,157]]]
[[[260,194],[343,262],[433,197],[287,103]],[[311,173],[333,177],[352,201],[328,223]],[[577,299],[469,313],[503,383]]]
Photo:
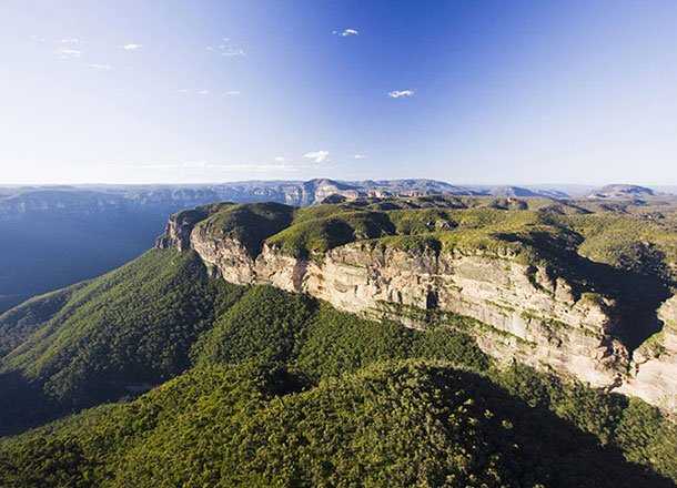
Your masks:
[[[444,325],[451,314],[469,317],[465,332],[499,363],[517,360],[677,411],[675,296],[658,308],[663,328],[633,350],[620,339],[628,321],[619,297],[582,274],[584,258],[567,247],[576,238],[549,216],[356,205],[264,204],[253,210],[265,214],[256,230],[233,218],[246,205],[178,214],[158,245],[192,248],[235,284],[307,293],[410,327]],[[544,233],[553,238],[535,237]]]

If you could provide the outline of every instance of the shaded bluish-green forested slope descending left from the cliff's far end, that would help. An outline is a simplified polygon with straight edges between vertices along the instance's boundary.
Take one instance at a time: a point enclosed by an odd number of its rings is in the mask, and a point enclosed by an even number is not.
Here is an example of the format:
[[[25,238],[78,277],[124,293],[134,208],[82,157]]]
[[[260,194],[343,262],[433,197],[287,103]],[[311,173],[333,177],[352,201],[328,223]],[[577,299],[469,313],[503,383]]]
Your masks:
[[[39,392],[37,400],[47,396],[65,410],[133,395],[189,367],[190,346],[240,293],[210,279],[193,253],[151,251],[48,295],[59,298],[49,307],[42,297],[6,314],[33,311],[46,322],[33,323],[32,335],[2,359],[0,384],[10,382],[29,397]],[[2,430],[22,427],[21,415],[3,414],[0,408]]]

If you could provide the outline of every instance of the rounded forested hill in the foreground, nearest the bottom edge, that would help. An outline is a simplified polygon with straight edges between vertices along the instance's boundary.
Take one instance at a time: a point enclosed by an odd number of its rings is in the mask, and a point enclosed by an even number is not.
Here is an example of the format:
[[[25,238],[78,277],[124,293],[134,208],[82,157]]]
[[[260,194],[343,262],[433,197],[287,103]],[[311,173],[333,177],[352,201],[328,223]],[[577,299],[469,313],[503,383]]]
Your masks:
[[[665,425],[630,409],[619,436],[641,434],[655,456],[660,434],[651,428]],[[133,403],[0,441],[0,482],[671,486],[484,377],[422,360],[377,363],[306,388],[281,365],[195,368]]]

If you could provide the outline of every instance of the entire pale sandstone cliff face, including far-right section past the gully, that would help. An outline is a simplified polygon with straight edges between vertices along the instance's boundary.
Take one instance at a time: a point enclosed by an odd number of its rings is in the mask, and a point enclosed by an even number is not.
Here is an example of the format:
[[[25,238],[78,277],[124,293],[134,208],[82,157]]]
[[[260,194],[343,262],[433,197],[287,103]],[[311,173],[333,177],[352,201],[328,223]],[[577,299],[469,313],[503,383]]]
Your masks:
[[[307,293],[337,309],[410,327],[444,324],[445,314],[472,317],[466,332],[498,362],[569,375],[677,411],[677,297],[659,309],[663,331],[630,360],[615,338],[620,321],[613,299],[574,292],[564,277],[509,248],[402,250],[376,240],[302,258],[263,243],[253,256],[241,241],[193,224],[170,222],[159,245],[193,248],[231,283]]]

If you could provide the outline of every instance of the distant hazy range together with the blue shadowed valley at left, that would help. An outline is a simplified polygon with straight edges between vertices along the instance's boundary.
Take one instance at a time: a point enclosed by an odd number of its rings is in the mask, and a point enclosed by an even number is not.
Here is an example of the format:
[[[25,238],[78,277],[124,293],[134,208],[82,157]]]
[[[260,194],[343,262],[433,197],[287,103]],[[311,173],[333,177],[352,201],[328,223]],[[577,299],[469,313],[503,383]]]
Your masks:
[[[148,248],[166,217],[213,202],[307,206],[360,197],[463,195],[496,199],[650,197],[630,185],[453,185],[442,181],[244,181],[190,185],[0,187],[0,312],[38,293],[87,279]]]

